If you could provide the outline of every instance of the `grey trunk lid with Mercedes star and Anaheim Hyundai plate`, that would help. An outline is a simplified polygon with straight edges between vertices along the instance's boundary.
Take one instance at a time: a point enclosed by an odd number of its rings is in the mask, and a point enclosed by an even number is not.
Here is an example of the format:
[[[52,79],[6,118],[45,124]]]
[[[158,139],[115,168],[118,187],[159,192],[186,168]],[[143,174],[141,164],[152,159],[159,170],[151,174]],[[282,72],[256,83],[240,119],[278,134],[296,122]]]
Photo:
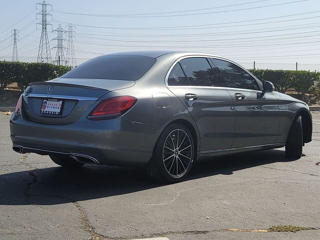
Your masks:
[[[32,82],[23,93],[23,111],[33,121],[67,124],[80,118],[109,91],[134,85],[134,81],[56,78]]]

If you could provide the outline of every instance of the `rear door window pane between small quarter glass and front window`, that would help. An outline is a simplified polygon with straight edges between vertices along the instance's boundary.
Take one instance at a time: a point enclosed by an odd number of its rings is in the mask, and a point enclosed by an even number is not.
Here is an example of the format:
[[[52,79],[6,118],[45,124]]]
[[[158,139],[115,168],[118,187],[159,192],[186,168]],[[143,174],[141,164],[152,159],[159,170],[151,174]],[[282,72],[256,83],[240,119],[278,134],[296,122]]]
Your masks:
[[[203,57],[190,57],[180,61],[180,64],[187,75],[190,84],[193,86],[217,86],[215,74]]]

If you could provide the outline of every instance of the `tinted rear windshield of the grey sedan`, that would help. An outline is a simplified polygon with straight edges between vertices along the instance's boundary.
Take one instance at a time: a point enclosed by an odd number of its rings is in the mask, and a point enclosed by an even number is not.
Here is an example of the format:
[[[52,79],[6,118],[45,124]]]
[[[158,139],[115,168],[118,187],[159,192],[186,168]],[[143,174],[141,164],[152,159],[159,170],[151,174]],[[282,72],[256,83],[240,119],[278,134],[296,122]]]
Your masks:
[[[63,78],[139,79],[154,64],[155,58],[137,55],[98,56],[73,68]]]

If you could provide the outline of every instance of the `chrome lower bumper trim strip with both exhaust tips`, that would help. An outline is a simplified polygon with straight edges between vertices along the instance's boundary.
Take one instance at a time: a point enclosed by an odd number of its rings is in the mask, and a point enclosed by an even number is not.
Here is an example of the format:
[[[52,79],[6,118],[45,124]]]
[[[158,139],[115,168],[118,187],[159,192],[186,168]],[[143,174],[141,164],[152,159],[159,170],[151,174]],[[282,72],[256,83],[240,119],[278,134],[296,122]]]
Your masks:
[[[42,150],[42,149],[36,149],[36,148],[29,148],[29,147],[23,147],[20,145],[13,145],[12,149],[18,153],[27,153],[27,152],[34,152],[34,153],[44,153],[44,155],[50,155],[50,154],[64,154],[69,155],[74,160],[84,163],[84,164],[99,164],[99,161],[95,159],[92,156],[79,154],[79,153],[63,153],[63,152],[55,152],[55,151],[49,151],[49,150]]]

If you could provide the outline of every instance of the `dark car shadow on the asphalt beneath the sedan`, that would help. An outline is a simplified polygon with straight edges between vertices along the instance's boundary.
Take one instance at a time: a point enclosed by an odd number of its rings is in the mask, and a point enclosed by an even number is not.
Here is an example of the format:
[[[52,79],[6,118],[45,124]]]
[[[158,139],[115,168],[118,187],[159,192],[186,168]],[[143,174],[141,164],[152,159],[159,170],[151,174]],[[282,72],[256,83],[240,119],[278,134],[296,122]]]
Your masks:
[[[197,161],[186,180],[287,161],[283,150],[243,153]],[[83,166],[49,167],[0,175],[0,205],[60,204],[121,195],[167,185],[151,181],[143,169]]]

